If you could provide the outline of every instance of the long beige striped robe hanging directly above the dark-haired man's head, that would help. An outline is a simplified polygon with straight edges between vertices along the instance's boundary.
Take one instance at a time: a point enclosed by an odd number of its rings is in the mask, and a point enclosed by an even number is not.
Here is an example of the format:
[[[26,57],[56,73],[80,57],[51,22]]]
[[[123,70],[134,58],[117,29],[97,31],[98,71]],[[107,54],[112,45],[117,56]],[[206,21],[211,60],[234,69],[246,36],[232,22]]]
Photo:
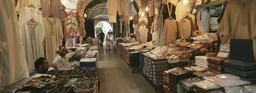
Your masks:
[[[25,22],[22,24],[22,41],[25,48],[28,69],[35,69],[36,59],[44,57],[44,33],[40,23]]]

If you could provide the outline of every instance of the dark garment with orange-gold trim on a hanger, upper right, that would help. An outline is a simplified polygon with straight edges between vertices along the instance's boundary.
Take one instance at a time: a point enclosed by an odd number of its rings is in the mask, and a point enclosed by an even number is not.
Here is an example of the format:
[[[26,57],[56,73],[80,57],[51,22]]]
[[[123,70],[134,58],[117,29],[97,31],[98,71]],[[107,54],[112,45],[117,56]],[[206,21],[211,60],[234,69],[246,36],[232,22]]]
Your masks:
[[[169,5],[169,10],[168,10],[168,6]],[[172,3],[168,3],[166,5],[164,5],[164,9],[163,9],[163,16],[164,16],[164,21],[170,17],[169,12],[171,13],[171,17],[176,20],[176,15],[175,15],[175,10],[176,10],[176,6],[174,6]],[[164,23],[163,23],[164,24]]]

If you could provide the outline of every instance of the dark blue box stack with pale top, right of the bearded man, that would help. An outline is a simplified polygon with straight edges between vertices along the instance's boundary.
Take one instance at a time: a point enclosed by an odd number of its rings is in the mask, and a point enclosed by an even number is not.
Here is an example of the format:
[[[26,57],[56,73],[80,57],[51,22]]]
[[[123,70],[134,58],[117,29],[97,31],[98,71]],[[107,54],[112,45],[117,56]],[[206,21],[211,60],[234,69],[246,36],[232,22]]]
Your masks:
[[[97,58],[82,58],[79,65],[80,67],[97,68]]]

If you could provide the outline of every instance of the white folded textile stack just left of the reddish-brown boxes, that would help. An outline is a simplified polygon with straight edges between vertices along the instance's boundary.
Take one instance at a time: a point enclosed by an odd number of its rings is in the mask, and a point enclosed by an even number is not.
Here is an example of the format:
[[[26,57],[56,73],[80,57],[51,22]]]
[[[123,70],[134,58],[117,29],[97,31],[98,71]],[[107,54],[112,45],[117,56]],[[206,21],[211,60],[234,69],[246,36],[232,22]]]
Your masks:
[[[204,67],[204,68],[208,68],[208,62],[207,62],[207,57],[206,56],[196,56],[195,57],[196,59],[196,65],[197,66],[201,66],[201,67]]]

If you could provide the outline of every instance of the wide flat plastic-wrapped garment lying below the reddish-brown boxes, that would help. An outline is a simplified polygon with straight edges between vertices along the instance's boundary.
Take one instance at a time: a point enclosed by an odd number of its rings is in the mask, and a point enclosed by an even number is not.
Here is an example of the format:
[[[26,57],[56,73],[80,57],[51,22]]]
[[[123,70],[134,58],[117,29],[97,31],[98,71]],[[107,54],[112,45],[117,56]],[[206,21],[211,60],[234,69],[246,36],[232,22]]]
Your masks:
[[[204,79],[215,82],[221,87],[241,86],[251,83],[249,81],[240,80],[240,77],[231,74],[222,74],[215,77],[204,77]]]

